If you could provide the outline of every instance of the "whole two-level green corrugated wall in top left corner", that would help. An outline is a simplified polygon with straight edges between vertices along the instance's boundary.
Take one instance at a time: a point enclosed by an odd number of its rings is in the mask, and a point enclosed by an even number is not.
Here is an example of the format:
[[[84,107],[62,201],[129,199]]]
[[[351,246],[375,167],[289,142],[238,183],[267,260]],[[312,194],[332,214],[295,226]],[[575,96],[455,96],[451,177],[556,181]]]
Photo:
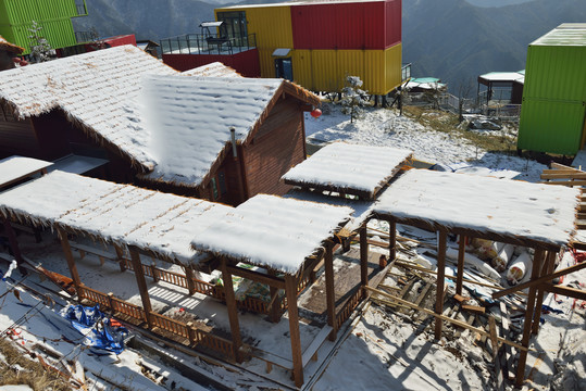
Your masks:
[[[77,1],[85,12],[85,1]],[[29,28],[37,22],[52,48],[77,43],[72,17],[82,16],[75,0],[0,0],[0,35],[7,40],[30,51]]]

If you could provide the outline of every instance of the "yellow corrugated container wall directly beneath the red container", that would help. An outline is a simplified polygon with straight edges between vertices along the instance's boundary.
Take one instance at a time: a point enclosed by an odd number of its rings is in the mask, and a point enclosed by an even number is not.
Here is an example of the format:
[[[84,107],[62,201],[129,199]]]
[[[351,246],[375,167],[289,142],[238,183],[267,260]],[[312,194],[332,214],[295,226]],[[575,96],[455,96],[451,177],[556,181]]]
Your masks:
[[[401,45],[387,50],[295,50],[292,68],[294,80],[313,91],[340,91],[346,76],[359,76],[363,89],[386,94],[401,83]]]

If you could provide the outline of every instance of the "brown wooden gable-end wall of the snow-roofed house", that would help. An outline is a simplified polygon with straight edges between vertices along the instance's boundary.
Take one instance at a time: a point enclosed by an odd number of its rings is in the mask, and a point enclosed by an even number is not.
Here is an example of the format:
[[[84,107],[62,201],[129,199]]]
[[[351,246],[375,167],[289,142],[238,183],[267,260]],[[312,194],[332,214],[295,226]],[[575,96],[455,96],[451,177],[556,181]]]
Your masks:
[[[303,126],[300,102],[279,99],[244,150],[249,198],[258,193],[283,195],[291,188],[280,177],[306,159]]]

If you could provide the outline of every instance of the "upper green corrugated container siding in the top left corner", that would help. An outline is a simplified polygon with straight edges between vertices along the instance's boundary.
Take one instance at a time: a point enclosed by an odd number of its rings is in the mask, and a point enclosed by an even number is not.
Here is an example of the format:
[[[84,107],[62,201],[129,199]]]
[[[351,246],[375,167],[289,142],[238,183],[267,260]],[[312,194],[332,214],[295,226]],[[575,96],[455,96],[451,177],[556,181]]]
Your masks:
[[[77,16],[74,0],[4,0],[10,23],[51,21]]]

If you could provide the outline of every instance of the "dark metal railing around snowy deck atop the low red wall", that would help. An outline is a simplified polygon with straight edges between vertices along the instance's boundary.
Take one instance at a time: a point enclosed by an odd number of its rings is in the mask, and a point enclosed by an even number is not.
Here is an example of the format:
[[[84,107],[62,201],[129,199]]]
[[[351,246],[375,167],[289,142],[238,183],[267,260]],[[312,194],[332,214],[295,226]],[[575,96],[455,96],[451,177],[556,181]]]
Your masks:
[[[161,39],[163,54],[224,54],[232,55],[257,48],[254,34],[246,37],[221,37],[217,35],[187,34]]]

